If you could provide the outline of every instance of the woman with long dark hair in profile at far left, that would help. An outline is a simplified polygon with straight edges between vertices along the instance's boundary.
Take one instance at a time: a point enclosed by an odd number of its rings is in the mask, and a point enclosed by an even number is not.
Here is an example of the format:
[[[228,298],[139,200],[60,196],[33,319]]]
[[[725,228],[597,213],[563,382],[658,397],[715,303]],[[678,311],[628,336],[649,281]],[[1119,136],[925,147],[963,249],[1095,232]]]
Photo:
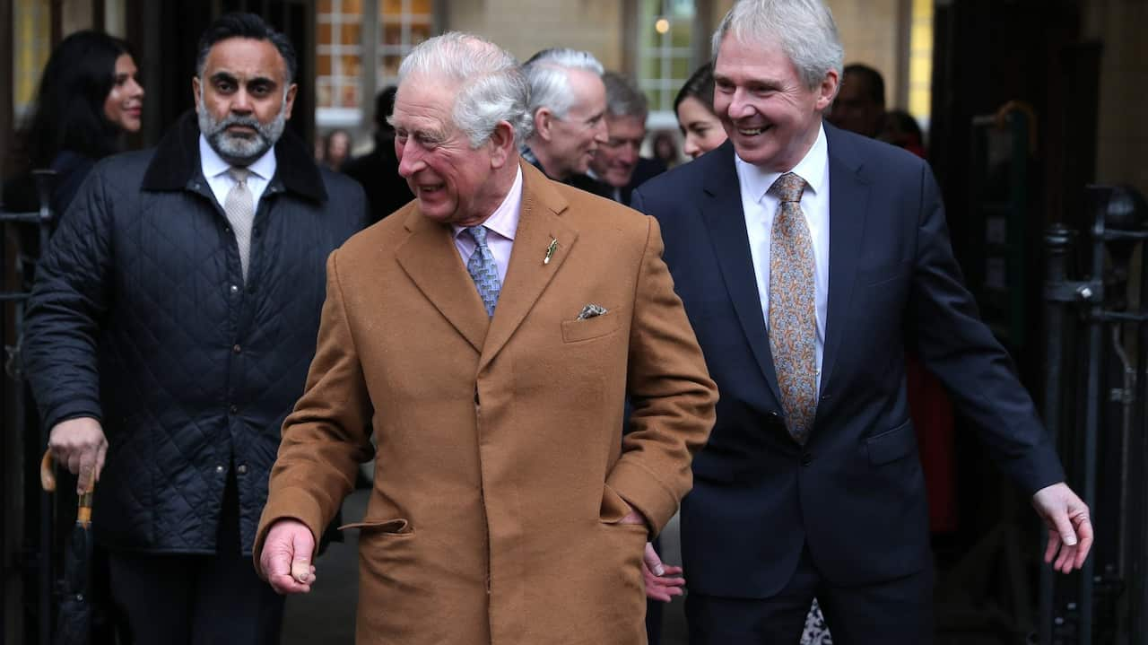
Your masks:
[[[23,132],[20,162],[24,173],[56,171],[51,205],[57,217],[95,162],[118,151],[125,132],[139,131],[144,88],[137,73],[127,42],[106,33],[77,31],[52,52]],[[30,186],[26,180],[10,185],[6,208],[37,208]]]

